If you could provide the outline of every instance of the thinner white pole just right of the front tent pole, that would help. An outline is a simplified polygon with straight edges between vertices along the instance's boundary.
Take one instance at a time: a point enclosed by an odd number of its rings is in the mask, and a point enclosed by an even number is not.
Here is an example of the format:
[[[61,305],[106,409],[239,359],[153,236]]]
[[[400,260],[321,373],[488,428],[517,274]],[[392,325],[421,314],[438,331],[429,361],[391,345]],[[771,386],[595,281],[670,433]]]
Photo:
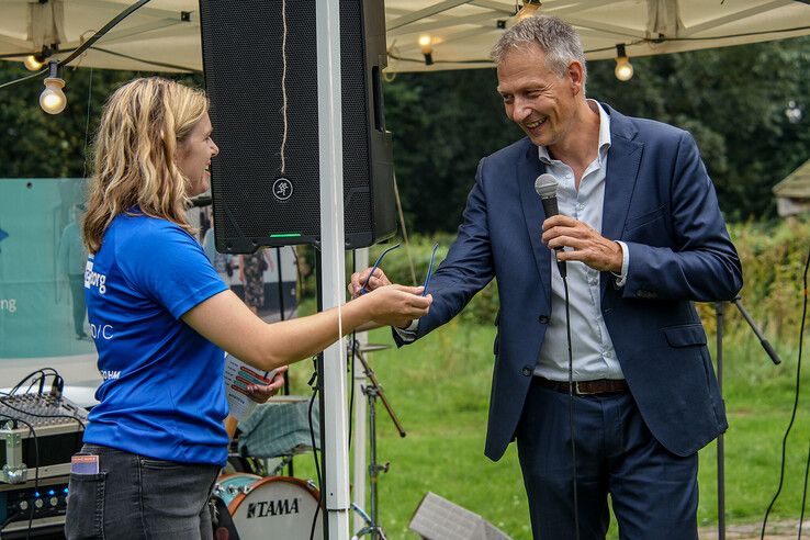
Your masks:
[[[369,248],[361,248],[355,252],[355,271],[359,272],[369,266]],[[369,342],[369,333],[360,331],[357,335],[360,346]],[[368,474],[365,464],[365,414],[367,403],[361,386],[365,384],[365,372],[363,364],[355,357],[355,429],[351,446],[355,448],[355,484],[352,490],[352,500],[355,504],[368,513],[365,506],[365,475]],[[357,513],[355,514],[355,531],[362,529],[365,521]]]

